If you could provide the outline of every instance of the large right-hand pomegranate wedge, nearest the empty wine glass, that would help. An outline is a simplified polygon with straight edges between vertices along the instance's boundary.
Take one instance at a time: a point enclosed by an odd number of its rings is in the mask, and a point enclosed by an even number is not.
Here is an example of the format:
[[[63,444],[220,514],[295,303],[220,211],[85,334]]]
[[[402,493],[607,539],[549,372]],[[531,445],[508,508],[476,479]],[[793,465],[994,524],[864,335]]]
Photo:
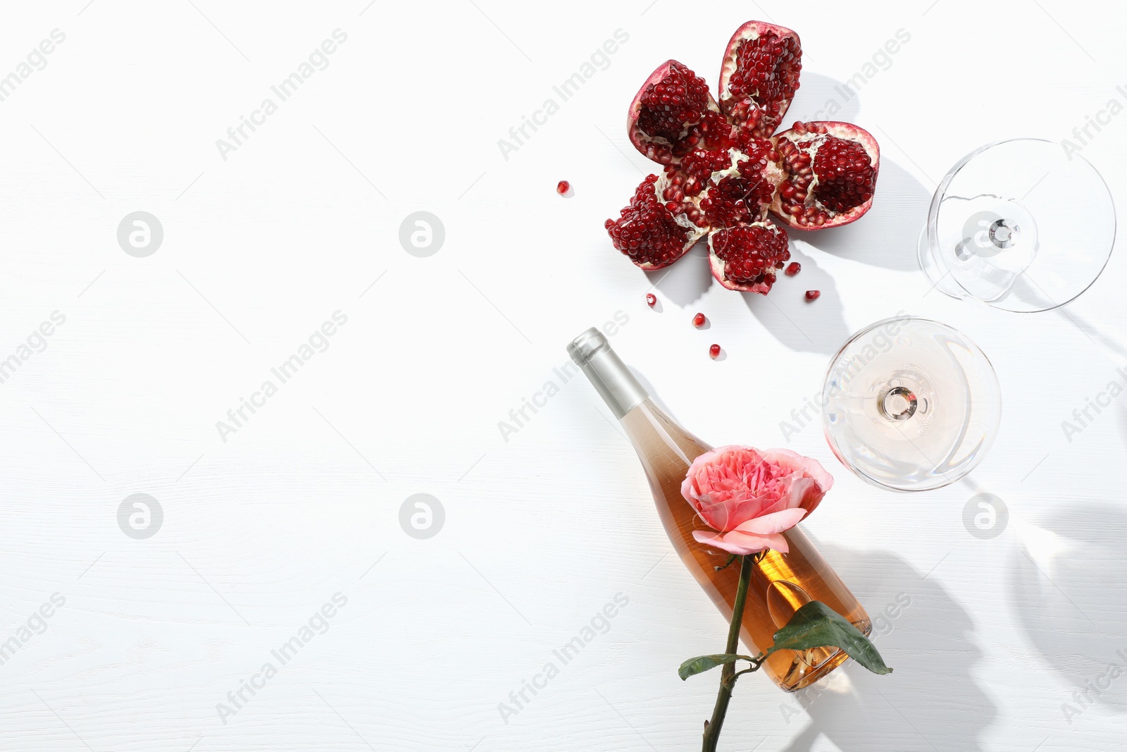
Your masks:
[[[795,228],[841,227],[872,206],[880,147],[867,131],[832,121],[795,123],[775,136],[787,178],[771,211]]]

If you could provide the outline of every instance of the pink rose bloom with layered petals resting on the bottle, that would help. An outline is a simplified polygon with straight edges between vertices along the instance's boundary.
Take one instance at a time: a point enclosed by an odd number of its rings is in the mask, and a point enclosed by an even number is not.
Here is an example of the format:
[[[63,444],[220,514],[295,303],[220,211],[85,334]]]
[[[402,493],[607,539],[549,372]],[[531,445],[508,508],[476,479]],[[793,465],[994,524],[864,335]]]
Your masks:
[[[786,554],[790,530],[815,510],[834,478],[808,457],[786,449],[720,446],[689,468],[681,495],[708,527],[698,542],[746,556],[767,548]]]

